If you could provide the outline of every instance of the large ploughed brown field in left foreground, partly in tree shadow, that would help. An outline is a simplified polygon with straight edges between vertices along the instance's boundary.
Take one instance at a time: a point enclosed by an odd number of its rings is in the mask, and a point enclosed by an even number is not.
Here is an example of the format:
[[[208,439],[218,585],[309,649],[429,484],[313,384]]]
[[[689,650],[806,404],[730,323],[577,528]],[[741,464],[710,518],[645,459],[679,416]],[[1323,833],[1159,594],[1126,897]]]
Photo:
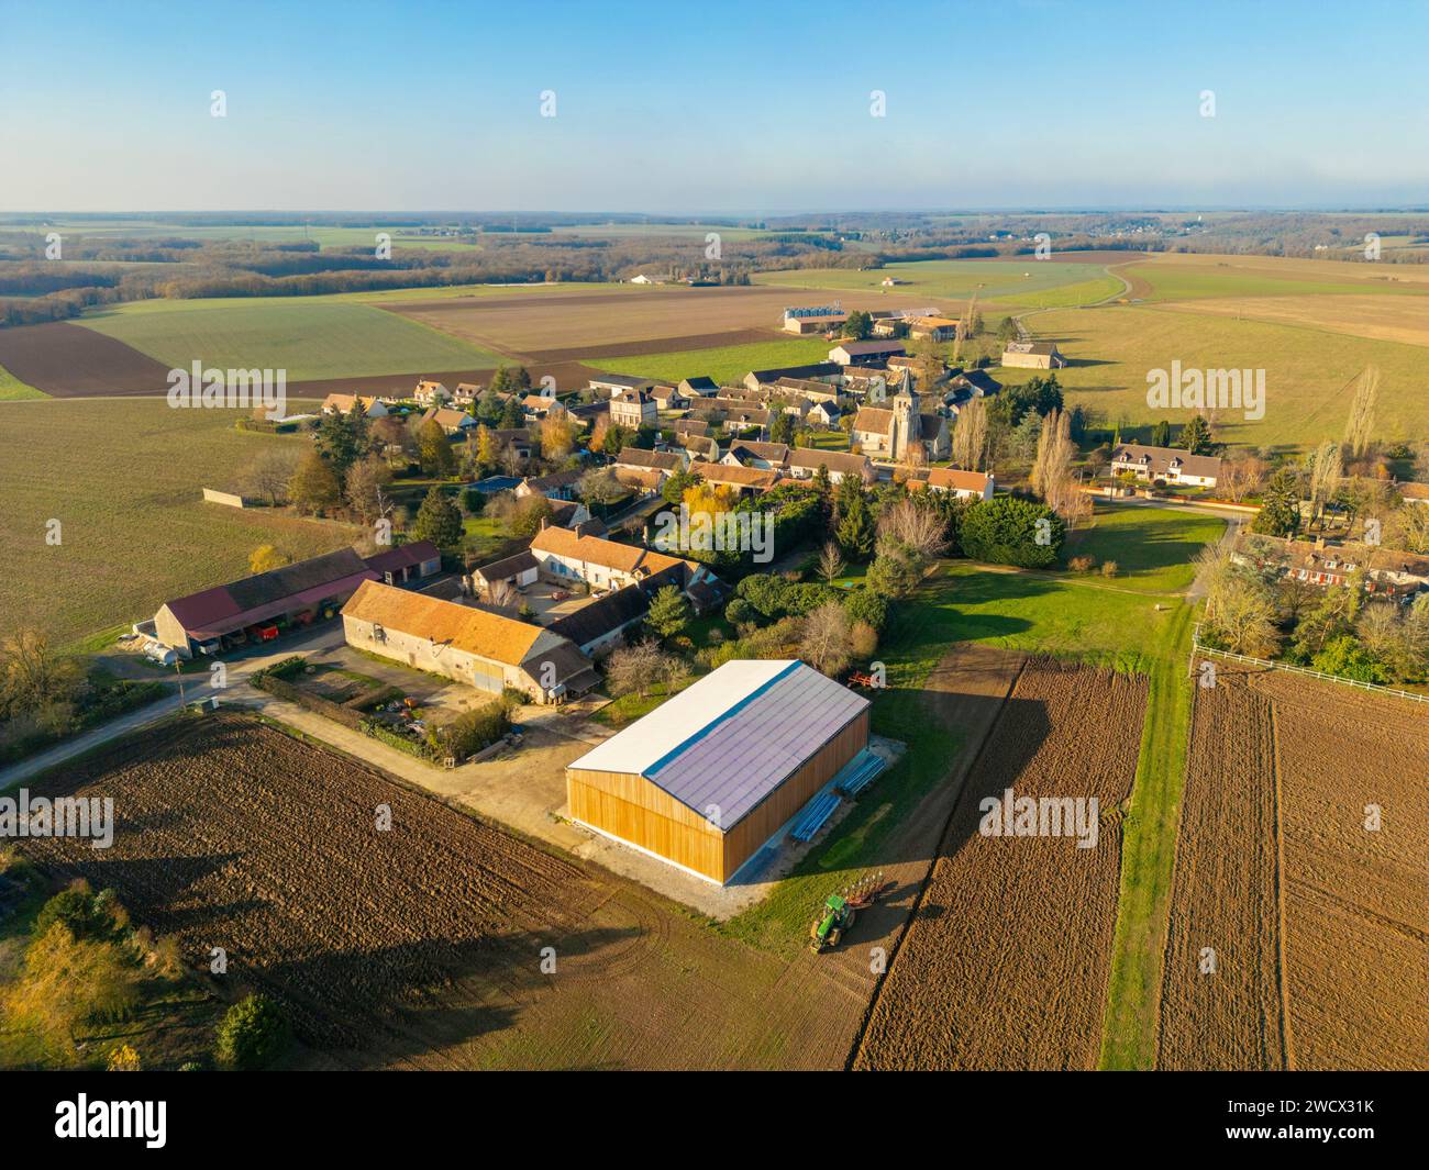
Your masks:
[[[727,940],[237,713],[31,789],[114,799],[111,849],[36,840],[36,861],[114,887],[199,971],[223,947],[220,990],[277,997],[307,1067],[837,1069],[863,1014],[816,956]]]

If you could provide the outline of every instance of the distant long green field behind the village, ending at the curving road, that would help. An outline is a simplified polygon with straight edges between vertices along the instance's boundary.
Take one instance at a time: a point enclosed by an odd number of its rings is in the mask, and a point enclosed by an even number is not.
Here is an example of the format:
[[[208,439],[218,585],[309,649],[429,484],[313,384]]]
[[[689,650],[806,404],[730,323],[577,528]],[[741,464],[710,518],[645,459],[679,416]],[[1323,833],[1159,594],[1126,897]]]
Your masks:
[[[892,276],[905,281],[885,289],[882,281]],[[760,273],[756,284],[780,284],[790,289],[829,289],[872,291],[903,303],[910,297],[966,300],[973,293],[979,300],[999,307],[1055,309],[1092,304],[1116,296],[1122,283],[1096,264],[1063,264],[1056,260],[1013,261],[997,260],[919,260],[910,264],[887,264],[870,271],[852,269],[790,269]]]

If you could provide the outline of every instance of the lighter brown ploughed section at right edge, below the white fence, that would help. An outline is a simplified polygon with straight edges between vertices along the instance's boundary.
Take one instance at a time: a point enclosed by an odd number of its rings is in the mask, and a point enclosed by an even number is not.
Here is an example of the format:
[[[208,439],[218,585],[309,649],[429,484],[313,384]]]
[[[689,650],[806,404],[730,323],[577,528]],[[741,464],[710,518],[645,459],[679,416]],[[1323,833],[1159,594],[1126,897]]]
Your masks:
[[[1286,671],[1248,681],[1275,706],[1290,1064],[1429,1069],[1429,711]]]

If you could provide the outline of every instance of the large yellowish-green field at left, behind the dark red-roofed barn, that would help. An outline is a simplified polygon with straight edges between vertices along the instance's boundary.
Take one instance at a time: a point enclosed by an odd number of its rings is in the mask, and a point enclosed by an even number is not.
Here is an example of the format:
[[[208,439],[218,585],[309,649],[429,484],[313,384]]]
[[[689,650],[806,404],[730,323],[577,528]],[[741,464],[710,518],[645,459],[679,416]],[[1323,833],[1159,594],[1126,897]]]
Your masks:
[[[352,543],[332,521],[203,503],[203,487],[229,487],[260,450],[306,441],[233,421],[234,411],[170,410],[160,399],[0,409],[0,624],[63,643],[240,577],[260,544],[297,560]],[[59,544],[46,543],[50,520]]]

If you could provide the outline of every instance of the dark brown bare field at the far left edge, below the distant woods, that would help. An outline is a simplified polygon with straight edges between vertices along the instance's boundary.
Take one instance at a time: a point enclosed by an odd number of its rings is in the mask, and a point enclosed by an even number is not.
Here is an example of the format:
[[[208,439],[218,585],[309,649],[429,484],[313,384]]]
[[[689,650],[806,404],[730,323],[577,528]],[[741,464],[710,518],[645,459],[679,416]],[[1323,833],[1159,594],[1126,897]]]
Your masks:
[[[56,399],[156,394],[169,389],[167,366],[69,321],[0,329],[0,367]]]

